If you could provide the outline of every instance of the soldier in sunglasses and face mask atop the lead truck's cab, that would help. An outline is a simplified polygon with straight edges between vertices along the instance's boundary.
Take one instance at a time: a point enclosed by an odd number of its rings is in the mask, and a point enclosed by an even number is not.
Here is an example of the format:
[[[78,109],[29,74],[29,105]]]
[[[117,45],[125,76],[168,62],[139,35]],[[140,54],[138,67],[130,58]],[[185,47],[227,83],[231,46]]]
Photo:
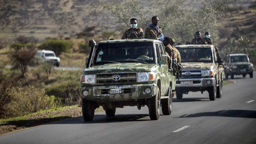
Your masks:
[[[126,31],[124,32],[123,36],[121,39],[126,39],[126,38],[134,38],[134,37],[142,37],[143,38],[143,30],[142,28],[137,28],[137,19],[132,18],[130,20],[130,26],[131,28],[127,28]],[[133,32],[132,32],[132,27],[133,27]],[[135,34],[135,35],[134,35]],[[130,36],[129,36],[130,35]],[[128,37],[129,36],[129,37]]]

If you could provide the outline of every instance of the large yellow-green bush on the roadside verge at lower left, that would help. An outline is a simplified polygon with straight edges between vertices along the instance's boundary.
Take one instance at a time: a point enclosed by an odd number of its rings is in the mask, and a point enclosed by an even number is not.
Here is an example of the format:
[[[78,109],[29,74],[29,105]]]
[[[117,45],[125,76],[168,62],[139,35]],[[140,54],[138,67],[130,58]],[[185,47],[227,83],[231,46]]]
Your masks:
[[[53,95],[48,96],[45,94],[44,89],[36,89],[34,86],[30,85],[25,88],[12,88],[9,90],[8,94],[12,98],[9,104],[9,111],[13,116],[21,116],[60,106],[58,103],[59,100]]]

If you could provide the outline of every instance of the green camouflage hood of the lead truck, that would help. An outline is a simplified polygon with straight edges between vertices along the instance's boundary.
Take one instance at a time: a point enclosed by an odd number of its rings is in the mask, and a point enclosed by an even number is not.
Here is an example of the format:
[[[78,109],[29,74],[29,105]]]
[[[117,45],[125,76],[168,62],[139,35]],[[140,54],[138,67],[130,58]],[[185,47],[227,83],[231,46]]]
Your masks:
[[[144,63],[111,63],[84,69],[84,74],[112,72],[149,72],[157,69],[156,64]]]

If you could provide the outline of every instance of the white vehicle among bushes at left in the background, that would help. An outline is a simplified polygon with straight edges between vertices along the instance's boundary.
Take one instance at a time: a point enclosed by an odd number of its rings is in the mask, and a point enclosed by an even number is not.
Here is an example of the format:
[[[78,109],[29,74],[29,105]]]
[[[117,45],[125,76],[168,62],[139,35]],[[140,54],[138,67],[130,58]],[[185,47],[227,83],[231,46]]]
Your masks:
[[[57,67],[60,66],[60,58],[56,57],[53,51],[38,50],[36,51],[36,63],[53,62]]]

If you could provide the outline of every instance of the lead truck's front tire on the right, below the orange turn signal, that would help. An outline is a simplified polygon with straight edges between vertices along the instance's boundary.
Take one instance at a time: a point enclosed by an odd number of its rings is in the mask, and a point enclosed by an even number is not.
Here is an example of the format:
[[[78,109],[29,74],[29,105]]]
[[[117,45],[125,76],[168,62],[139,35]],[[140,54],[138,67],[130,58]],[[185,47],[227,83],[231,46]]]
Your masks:
[[[151,120],[158,120],[160,116],[161,95],[157,87],[156,95],[149,98],[148,112]]]

